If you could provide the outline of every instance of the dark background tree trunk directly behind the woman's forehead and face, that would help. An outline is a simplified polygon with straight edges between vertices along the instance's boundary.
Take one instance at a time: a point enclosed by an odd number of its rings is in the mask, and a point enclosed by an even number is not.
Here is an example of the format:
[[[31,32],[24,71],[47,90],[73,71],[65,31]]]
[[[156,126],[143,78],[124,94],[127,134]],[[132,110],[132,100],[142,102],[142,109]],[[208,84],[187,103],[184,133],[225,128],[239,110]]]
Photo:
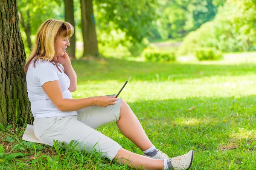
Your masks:
[[[65,21],[69,22],[73,27],[75,27],[74,20],[74,5],[73,0],[64,0],[65,4]],[[67,54],[69,57],[76,57],[76,32],[73,36],[69,38],[70,46],[67,48]]]

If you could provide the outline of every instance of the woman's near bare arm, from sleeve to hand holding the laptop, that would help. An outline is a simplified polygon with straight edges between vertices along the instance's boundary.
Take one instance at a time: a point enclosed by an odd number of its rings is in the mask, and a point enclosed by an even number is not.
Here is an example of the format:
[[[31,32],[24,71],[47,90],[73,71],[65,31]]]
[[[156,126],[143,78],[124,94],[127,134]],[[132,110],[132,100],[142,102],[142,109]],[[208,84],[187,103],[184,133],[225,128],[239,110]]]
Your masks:
[[[61,85],[58,80],[46,82],[42,87],[49,99],[60,111],[78,111],[82,108],[87,108],[93,105],[107,107],[109,105],[115,105],[118,100],[118,98],[109,96],[89,97],[83,99],[64,99],[61,91]]]

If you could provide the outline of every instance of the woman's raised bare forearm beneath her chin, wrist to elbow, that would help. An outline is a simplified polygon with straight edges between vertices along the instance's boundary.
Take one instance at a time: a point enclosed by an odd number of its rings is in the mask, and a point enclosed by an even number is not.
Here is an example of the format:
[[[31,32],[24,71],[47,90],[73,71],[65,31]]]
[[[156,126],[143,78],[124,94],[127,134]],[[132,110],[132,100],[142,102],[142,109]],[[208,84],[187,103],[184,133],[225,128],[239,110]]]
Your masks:
[[[71,62],[64,64],[63,67],[65,74],[67,74],[68,78],[70,79],[70,87],[68,88],[69,91],[76,91],[77,77],[76,72],[71,65]]]

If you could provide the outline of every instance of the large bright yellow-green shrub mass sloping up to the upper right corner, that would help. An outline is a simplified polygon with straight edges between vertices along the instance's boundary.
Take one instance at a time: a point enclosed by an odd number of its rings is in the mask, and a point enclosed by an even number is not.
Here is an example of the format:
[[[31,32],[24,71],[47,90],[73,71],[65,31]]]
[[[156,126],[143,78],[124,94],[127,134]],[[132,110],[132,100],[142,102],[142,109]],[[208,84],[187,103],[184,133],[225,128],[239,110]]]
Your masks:
[[[178,54],[193,54],[198,47],[215,47],[224,52],[256,50],[255,8],[255,1],[227,1],[219,7],[214,20],[185,37]]]

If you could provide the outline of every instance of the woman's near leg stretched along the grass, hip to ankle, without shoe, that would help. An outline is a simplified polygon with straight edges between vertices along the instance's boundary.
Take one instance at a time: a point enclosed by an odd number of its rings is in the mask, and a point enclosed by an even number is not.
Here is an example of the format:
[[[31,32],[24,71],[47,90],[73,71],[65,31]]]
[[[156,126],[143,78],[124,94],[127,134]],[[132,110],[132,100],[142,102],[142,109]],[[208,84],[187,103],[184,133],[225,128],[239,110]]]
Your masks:
[[[116,159],[119,164],[134,168],[163,170],[164,160],[151,159],[123,149],[118,143],[77,120],[76,116],[50,117],[35,119],[34,132],[45,144],[53,145],[53,140],[69,144],[79,142],[76,147],[87,153],[96,149],[108,159]]]

